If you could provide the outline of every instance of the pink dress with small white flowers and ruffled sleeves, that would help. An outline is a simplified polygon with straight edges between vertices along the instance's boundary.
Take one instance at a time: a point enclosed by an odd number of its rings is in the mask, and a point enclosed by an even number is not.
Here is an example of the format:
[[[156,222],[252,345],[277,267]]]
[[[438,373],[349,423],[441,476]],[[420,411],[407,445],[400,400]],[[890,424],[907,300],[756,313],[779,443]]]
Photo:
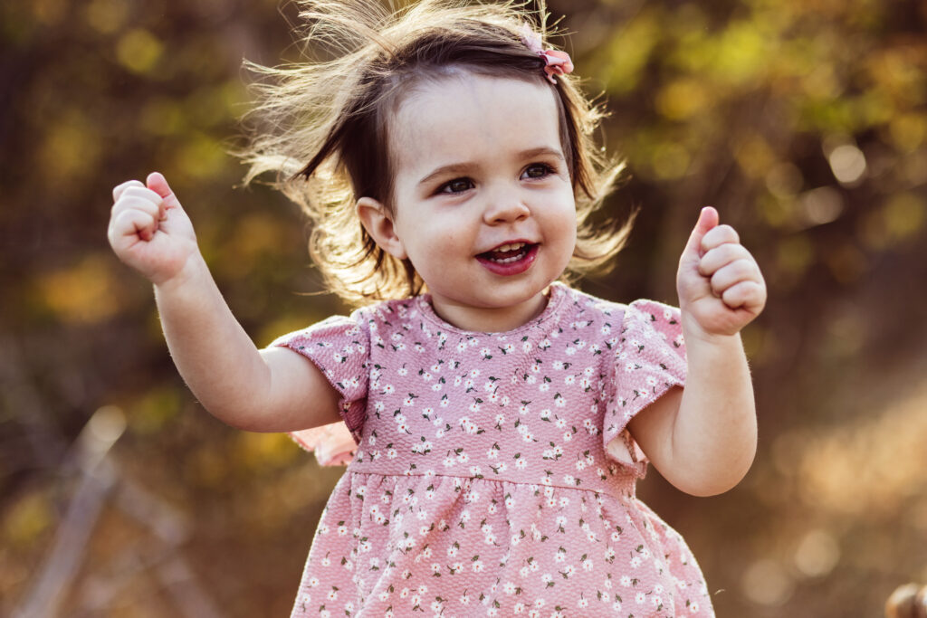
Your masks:
[[[714,615],[692,553],[635,496],[626,430],[683,385],[678,309],[553,284],[508,333],[418,296],[274,343],[342,396],[343,424],[294,436],[349,460],[293,616]]]

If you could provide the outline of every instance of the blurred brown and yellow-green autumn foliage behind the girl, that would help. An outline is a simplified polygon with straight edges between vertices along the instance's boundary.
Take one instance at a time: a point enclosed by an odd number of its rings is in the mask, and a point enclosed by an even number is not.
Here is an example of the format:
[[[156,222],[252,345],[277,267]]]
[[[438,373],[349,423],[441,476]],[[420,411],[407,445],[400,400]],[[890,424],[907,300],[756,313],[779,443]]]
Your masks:
[[[743,333],[760,445],[717,498],[653,471],[719,616],[880,616],[927,580],[927,2],[551,0],[641,208],[605,298],[675,303],[715,205],[767,277]],[[0,5],[0,614],[287,615],[341,469],[201,410],[106,241],[161,170],[260,346],[346,310],[297,208],[226,152],[242,59],[298,57],[278,0]]]

